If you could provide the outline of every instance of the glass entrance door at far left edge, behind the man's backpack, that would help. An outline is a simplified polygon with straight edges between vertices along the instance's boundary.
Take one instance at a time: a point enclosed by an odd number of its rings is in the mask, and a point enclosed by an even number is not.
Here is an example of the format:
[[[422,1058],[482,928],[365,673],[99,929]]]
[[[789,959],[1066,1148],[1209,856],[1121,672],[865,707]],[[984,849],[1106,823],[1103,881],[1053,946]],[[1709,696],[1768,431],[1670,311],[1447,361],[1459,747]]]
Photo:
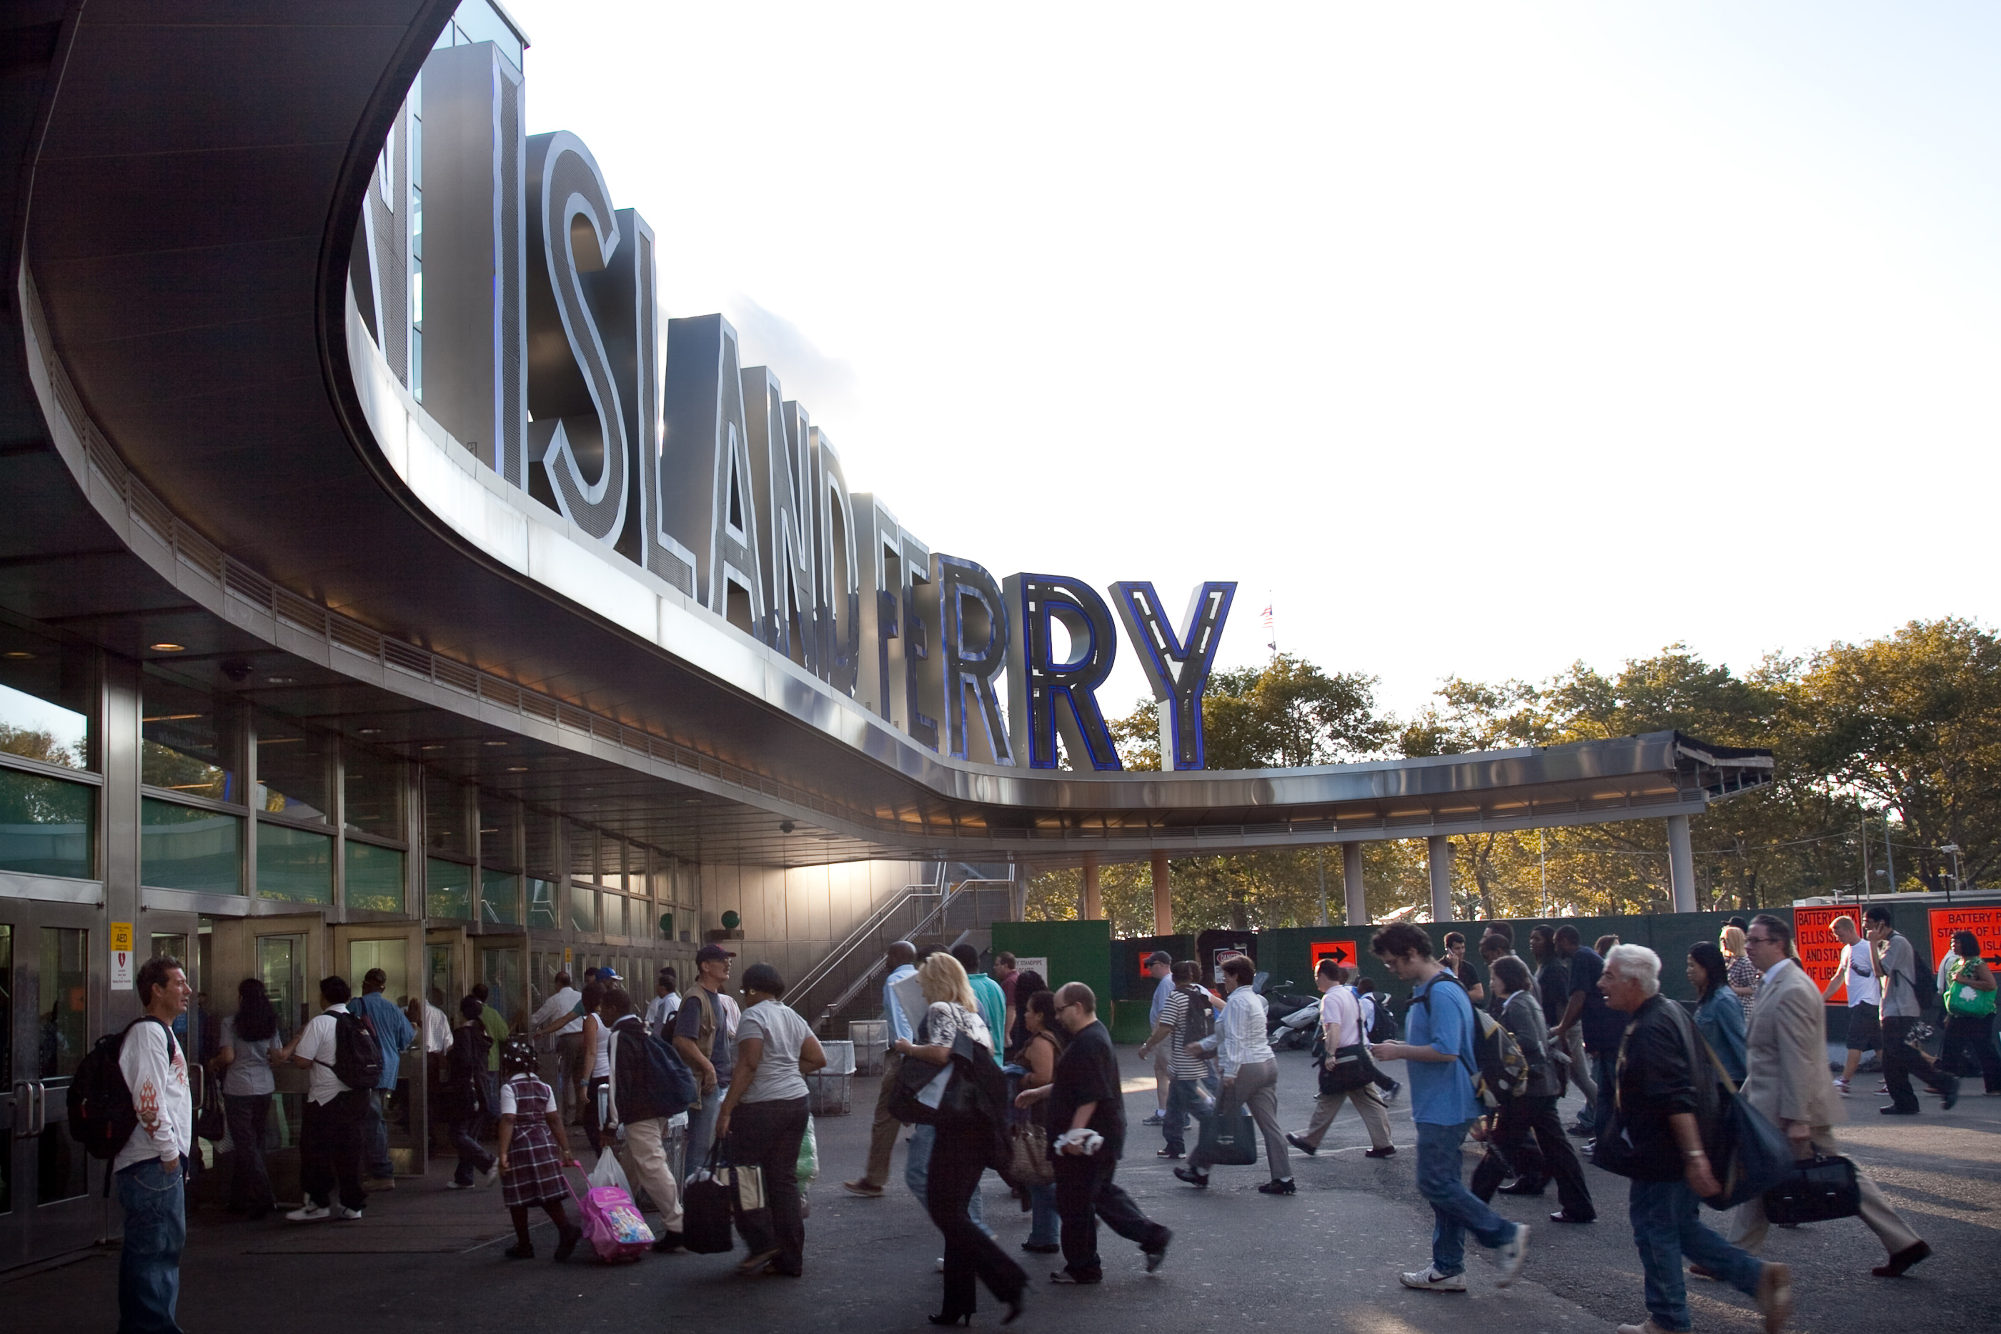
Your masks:
[[[0,1264],[24,1264],[104,1234],[104,1172],[70,1138],[70,1078],[104,1028],[108,942],[94,908],[0,902]]]

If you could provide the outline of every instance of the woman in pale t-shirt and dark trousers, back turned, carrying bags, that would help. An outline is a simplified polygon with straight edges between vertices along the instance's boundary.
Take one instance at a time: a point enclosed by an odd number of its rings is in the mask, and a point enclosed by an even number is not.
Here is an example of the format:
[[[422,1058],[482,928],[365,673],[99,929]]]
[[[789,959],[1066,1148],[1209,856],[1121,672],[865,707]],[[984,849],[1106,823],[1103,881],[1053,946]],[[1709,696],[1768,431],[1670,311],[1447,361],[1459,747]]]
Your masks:
[[[736,1068],[716,1114],[716,1142],[728,1160],[764,1170],[770,1230],[736,1220],[750,1254],[742,1274],[804,1272],[806,1220],[798,1210],[798,1144],[806,1138],[806,1076],[826,1064],[820,1040],[798,1012],[782,1004],[784,978],[770,964],[750,964],[742,976],[744,1012],[736,1020]],[[728,1136],[724,1140],[724,1136]],[[690,1170],[694,1164],[690,1164]]]

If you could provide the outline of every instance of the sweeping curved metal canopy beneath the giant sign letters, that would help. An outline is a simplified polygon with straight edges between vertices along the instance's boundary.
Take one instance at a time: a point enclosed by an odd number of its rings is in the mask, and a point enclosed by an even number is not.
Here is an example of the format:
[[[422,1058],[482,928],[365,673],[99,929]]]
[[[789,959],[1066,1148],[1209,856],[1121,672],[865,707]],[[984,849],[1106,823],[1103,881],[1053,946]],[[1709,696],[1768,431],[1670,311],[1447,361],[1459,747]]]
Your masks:
[[[50,32],[44,114],[6,130],[32,172],[6,186],[0,604],[696,860],[1075,864],[1695,814],[1771,780],[1767,752],[1673,732],[1271,772],[954,764],[716,618],[668,652],[522,578],[398,474],[350,356],[352,220],[452,8],[94,0]]]

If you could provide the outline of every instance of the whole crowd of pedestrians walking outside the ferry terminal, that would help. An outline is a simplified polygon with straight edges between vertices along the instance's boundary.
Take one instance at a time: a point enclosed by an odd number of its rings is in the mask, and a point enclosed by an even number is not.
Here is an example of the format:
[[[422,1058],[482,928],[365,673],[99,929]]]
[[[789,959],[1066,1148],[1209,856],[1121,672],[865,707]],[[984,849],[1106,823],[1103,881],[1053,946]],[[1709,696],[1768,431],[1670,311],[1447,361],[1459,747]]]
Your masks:
[[[1717,1228],[1703,1220],[1705,1202],[1723,1198],[1709,1162],[1719,1104],[1741,1098],[1779,1128],[1799,1160],[1815,1160],[1839,1154],[1843,1098],[1853,1096],[1871,1048],[1889,1096],[1883,1114],[1921,1110],[1913,1080],[1935,1090],[1943,1108],[1957,1100],[1963,1074],[1977,1072],[1987,1092],[2001,1096],[1997,984],[1975,936],[1955,936],[1937,974],[1921,976],[1887,908],[1871,908],[1861,926],[1841,916],[1831,930],[1843,950],[1821,988],[1799,964],[1787,920],[1733,918],[1715,942],[1687,950],[1695,1000],[1681,1006],[1661,996],[1663,964],[1653,950],[1615,936],[1587,948],[1571,924],[1535,926],[1529,960],[1515,952],[1511,930],[1489,930],[1477,946],[1485,976],[1459,932],[1447,934],[1445,952],[1435,956],[1423,928],[1387,926],[1371,952],[1409,986],[1403,1034],[1369,978],[1321,960],[1317,1092],[1311,1120],[1297,1132],[1279,1122],[1279,1062],[1251,958],[1217,960],[1211,988],[1201,964],[1157,952],[1147,960],[1155,990],[1139,1048],[1157,1096],[1143,1124],[1161,1128],[1159,1158],[1177,1162],[1173,1174],[1197,1188],[1207,1188],[1223,1162],[1255,1162],[1251,1142],[1261,1140],[1267,1180],[1257,1190],[1289,1196],[1297,1192],[1289,1150],[1315,1158],[1345,1106],[1367,1132],[1369,1158],[1397,1156],[1389,1104],[1405,1088],[1391,1076],[1401,1064],[1417,1134],[1417,1192],[1433,1210],[1431,1260],[1401,1272],[1403,1286],[1465,1292],[1469,1236],[1495,1254],[1497,1286],[1513,1282],[1529,1256],[1531,1228],[1497,1214],[1497,1194],[1543,1196],[1555,1186],[1551,1222],[1593,1224],[1597,1202],[1569,1142],[1579,1136],[1583,1156],[1629,1180],[1647,1318],[1621,1334],[1689,1330],[1685,1274],[1745,1292],[1767,1334],[1777,1334],[1791,1314],[1793,1276],[1759,1256],[1771,1226],[1763,1198],[1733,1202]],[[388,1124],[406,1098],[402,1054],[416,1048],[432,1120],[446,1126],[456,1150],[448,1188],[500,1184],[516,1232],[506,1256],[536,1254],[536,1210],[556,1228],[558,1260],[578,1246],[584,1232],[570,1218],[564,1172],[582,1170],[570,1136],[580,1128],[596,1162],[616,1160],[618,1178],[656,1212],[656,1252],[682,1248],[690,1180],[718,1164],[756,1168],[764,1206],[736,1220],[746,1250],[738,1268],[798,1276],[806,1254],[806,1076],[826,1056],[806,1020],[784,1004],[778,970],[746,968],[732,996],[732,962],[722,946],[704,946],[692,986],[682,992],[676,974],[660,970],[642,1000],[610,970],[588,970],[582,988],[556,974],[520,1032],[484,986],[458,1000],[454,1024],[438,992],[392,1004],[382,970],[362,978],[358,996],[344,978],[328,976],[318,986],[320,1012],[290,1040],[262,982],[246,978],[204,1062],[220,1080],[234,1150],[226,1208],[248,1218],[276,1208],[264,1144],[274,1070],[294,1066],[304,1072],[304,1202],[286,1218],[362,1220],[368,1192],[394,1186]],[[1003,1322],[1025,1308],[1027,1270],[982,1216],[988,1170],[1009,1174],[1031,1214],[1021,1250],[1061,1254],[1051,1272],[1057,1284],[1105,1280],[1101,1222],[1139,1246],[1147,1272],[1161,1268],[1173,1240],[1117,1180],[1129,1126],[1099,998],[1081,982],[1053,990],[1015,964],[1003,954],[988,974],[970,946],[918,952],[908,942],[892,944],[884,960],[890,1044],[866,1168],[844,1188],[880,1198],[896,1142],[910,1130],[904,1184],[938,1228],[944,1252],[942,1304],[930,1316],[936,1324],[970,1322],[980,1286],[1003,1304]],[[1825,1004],[1839,986],[1847,986],[1849,1052],[1841,1074],[1829,1078]],[[1945,1016],[1937,1060],[1911,1040],[1933,988]],[[140,968],[138,992],[144,1016],[118,1048],[140,1108],[114,1162],[126,1208],[120,1312],[128,1328],[174,1328],[192,1138],[188,1062],[184,1040],[174,1036],[184,1030],[174,1024],[184,1022],[190,994],[170,958]],[[554,1052],[540,1052],[538,1040],[552,1040]],[[1585,1110],[1565,1126],[1557,1108],[1573,1084]],[[1011,1150],[1023,1132],[1047,1152],[1047,1168],[1023,1170]],[[1465,1180],[1469,1138],[1481,1156]],[[1885,1250],[1875,1276],[1901,1276],[1931,1256],[1859,1168],[1851,1212]]]

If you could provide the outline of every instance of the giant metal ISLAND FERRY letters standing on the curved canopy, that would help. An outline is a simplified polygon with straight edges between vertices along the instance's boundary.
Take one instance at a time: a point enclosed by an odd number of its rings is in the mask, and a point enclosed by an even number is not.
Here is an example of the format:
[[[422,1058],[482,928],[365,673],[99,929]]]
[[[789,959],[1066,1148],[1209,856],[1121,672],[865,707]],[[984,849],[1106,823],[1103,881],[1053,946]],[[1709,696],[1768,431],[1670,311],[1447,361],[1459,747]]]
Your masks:
[[[850,492],[826,428],[774,368],[740,364],[728,320],[660,328],[652,226],[614,206],[580,138],[522,134],[504,50],[430,54],[370,186],[350,264],[368,336],[572,540],[956,760],[1059,768],[1061,736],[1073,768],[1119,770],[1097,692],[1123,628],[1163,768],[1205,766],[1203,692],[1237,586],[1201,584],[1177,620],[1145,580],[996,578]],[[1053,492],[1053,516],[1093,512]]]

